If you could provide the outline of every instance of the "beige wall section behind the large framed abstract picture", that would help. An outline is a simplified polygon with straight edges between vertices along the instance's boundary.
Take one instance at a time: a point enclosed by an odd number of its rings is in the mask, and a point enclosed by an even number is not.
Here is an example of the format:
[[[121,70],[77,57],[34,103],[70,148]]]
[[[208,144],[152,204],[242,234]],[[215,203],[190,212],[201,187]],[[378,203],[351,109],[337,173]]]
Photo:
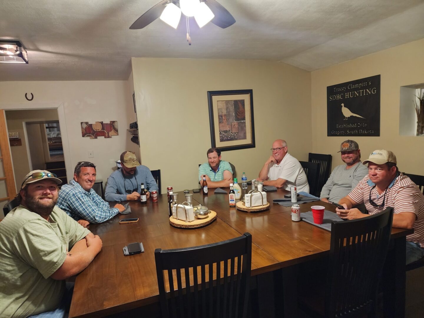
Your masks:
[[[256,178],[272,142],[306,160],[311,149],[310,72],[279,62],[133,58],[141,159],[161,169],[162,192],[197,188],[211,147],[207,91],[253,89],[256,148],[224,151],[239,180]]]

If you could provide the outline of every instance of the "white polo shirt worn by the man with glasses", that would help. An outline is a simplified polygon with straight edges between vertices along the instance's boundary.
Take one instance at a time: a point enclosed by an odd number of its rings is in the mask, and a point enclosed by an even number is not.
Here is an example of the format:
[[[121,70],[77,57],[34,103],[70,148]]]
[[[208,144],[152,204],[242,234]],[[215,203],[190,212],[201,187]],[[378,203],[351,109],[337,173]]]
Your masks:
[[[277,180],[279,178],[287,180],[283,185],[284,190],[290,191],[290,187],[296,186],[297,192],[304,191],[309,193],[309,184],[306,174],[300,162],[290,155],[290,153],[286,153],[279,165],[274,163],[269,169],[268,180]]]

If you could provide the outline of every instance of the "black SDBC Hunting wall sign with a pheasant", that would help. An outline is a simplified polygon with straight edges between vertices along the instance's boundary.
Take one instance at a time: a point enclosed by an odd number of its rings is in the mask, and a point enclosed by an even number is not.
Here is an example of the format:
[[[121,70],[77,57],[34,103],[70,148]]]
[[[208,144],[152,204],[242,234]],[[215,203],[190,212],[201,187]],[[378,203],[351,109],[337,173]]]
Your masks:
[[[327,86],[327,136],[380,135],[380,75]]]

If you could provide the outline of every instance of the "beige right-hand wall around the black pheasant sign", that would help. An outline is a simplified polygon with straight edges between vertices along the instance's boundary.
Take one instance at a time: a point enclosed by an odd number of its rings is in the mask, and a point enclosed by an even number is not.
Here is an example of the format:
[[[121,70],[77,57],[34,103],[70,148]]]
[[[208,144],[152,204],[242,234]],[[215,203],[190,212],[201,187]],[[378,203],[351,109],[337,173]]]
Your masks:
[[[312,151],[332,154],[334,168],[342,163],[337,153],[340,143],[350,138],[359,143],[362,159],[376,149],[391,150],[401,171],[423,175],[424,137],[399,136],[400,86],[424,83],[423,52],[421,39],[312,72]],[[378,74],[380,137],[327,137],[326,87]]]

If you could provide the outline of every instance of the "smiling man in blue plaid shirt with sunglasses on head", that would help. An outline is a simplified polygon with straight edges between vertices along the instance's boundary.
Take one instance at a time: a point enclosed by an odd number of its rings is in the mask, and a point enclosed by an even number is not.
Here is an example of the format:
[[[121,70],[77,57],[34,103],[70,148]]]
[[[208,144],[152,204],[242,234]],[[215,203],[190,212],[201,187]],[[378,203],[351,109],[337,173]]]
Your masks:
[[[96,166],[91,162],[78,162],[74,180],[59,191],[57,206],[71,218],[86,227],[89,223],[102,223],[125,210],[122,204],[113,208],[92,189],[96,181]]]

